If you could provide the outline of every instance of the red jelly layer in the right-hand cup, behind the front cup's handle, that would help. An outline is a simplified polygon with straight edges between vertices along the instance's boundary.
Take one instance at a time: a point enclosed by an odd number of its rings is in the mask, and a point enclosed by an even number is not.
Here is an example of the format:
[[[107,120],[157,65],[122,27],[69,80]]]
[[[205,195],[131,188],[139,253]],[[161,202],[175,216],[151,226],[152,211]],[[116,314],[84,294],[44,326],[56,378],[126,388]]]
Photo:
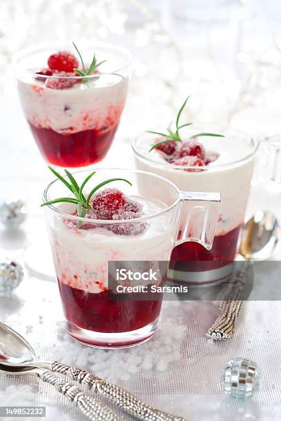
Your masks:
[[[196,242],[186,242],[176,246],[171,253],[170,268],[186,270],[185,262],[211,261],[218,262],[215,266],[222,266],[224,263],[233,261],[236,255],[236,247],[240,233],[238,226],[225,235],[217,235],[211,250],[206,250]],[[189,269],[190,270],[190,267]]]

